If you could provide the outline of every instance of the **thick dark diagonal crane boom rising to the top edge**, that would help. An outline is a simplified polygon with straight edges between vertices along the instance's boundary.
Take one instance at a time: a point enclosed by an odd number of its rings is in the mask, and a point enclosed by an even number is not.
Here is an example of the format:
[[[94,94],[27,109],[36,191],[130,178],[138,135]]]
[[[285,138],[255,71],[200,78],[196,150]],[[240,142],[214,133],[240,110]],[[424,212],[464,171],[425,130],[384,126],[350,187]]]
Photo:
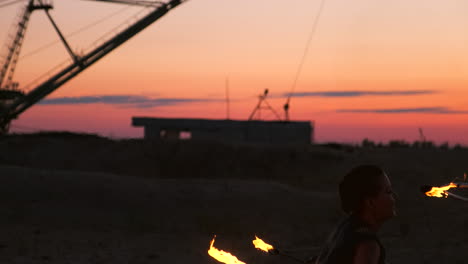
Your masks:
[[[55,91],[61,85],[81,73],[83,70],[97,62],[99,59],[107,55],[109,52],[119,47],[121,44],[135,36],[137,33],[151,25],[153,22],[164,16],[168,11],[177,7],[179,4],[186,0],[171,0],[161,6],[157,7],[154,11],[144,16],[133,25],[118,33],[116,36],[98,46],[94,50],[79,57],[65,69],[61,70],[48,80],[39,84],[36,88],[32,89],[29,93],[16,98],[11,104],[3,109],[0,108],[0,131],[8,128],[11,120],[18,117],[19,114],[26,109]]]

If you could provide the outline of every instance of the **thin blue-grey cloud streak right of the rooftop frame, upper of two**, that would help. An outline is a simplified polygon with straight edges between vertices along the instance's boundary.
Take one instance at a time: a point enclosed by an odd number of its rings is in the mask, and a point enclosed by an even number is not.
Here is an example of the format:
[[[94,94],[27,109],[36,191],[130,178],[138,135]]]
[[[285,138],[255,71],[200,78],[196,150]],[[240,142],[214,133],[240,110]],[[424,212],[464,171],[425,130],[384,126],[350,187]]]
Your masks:
[[[438,93],[435,90],[408,90],[408,91],[319,91],[286,93],[291,97],[361,97],[361,96],[411,96]]]

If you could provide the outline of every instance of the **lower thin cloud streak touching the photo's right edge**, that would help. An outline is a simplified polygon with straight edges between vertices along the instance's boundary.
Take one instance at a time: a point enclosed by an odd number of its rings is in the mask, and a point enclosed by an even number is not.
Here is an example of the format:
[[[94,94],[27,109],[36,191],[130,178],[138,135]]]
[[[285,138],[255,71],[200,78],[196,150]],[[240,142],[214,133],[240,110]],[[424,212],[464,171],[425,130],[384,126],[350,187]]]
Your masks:
[[[454,110],[447,107],[382,108],[382,109],[338,109],[339,113],[374,114],[468,114],[468,110]]]

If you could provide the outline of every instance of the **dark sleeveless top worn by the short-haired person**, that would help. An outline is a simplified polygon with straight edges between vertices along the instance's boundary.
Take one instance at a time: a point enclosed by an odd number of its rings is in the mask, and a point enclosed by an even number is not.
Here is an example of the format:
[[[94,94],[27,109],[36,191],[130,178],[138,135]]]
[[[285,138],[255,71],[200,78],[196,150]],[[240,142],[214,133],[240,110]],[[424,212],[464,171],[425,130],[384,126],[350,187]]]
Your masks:
[[[385,249],[377,235],[354,216],[343,220],[330,234],[315,264],[352,264],[356,246],[375,241],[380,247],[379,264],[385,263]]]

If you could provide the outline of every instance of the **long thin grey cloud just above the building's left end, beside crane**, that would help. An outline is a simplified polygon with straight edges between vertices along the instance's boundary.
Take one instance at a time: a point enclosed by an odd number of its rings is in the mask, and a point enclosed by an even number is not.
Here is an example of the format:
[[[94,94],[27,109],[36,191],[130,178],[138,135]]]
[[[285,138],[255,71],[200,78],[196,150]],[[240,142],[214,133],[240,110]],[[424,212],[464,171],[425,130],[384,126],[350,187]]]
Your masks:
[[[215,102],[218,99],[207,98],[150,98],[136,95],[104,95],[104,96],[78,96],[58,97],[45,99],[42,105],[77,105],[77,104],[110,104],[134,108],[152,108],[176,104]]]

